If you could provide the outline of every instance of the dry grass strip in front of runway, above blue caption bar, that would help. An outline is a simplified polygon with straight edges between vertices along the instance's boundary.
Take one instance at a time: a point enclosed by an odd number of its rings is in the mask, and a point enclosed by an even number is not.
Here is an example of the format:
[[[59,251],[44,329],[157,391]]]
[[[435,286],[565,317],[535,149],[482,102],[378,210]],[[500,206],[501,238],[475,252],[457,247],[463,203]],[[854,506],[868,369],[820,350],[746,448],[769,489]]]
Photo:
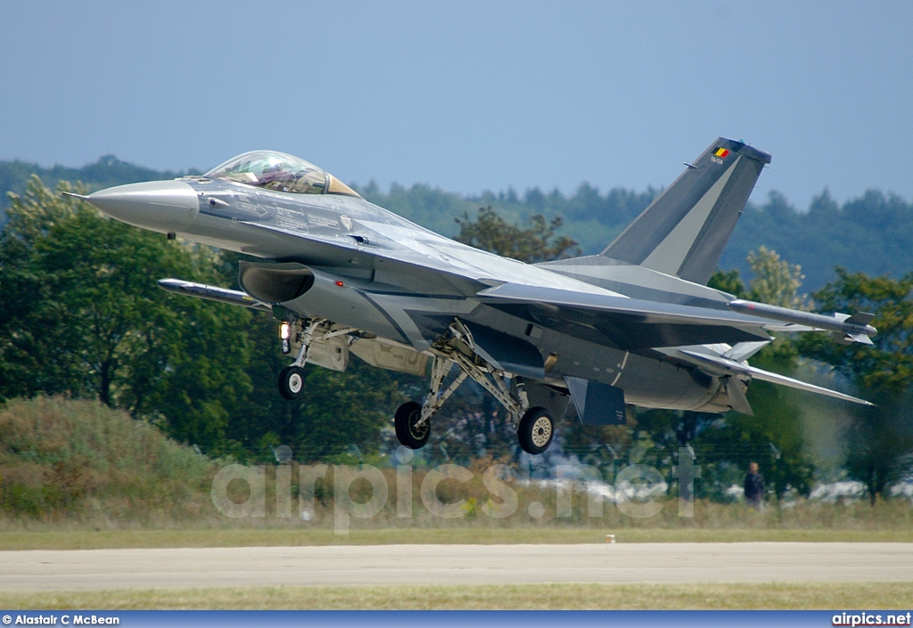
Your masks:
[[[6,609],[906,609],[908,582],[0,591]]]

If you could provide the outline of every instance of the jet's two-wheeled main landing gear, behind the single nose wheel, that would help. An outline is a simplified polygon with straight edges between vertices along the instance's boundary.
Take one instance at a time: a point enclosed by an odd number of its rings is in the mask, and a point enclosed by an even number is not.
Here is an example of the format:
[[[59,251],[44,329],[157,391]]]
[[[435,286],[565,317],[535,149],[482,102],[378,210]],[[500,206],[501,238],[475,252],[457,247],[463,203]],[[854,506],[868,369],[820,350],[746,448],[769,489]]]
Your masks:
[[[396,411],[396,438],[410,449],[425,446],[431,434],[431,417],[440,410],[450,395],[456,393],[460,384],[467,378],[472,378],[507,408],[523,451],[532,455],[541,454],[551,445],[555,432],[551,414],[545,408],[530,408],[522,380],[514,377],[511,387],[505,381],[505,373],[479,357],[473,347],[472,335],[459,320],[454,321],[449,334],[432,347],[435,361],[431,367],[431,386],[425,403],[407,402]],[[454,364],[459,372],[444,386]]]

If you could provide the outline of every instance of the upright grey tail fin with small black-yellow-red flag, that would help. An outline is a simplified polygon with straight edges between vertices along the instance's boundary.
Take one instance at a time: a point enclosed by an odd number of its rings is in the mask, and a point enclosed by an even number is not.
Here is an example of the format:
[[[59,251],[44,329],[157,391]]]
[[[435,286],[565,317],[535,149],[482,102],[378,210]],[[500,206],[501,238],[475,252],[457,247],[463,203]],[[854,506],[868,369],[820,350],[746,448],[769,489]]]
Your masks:
[[[602,255],[707,284],[771,155],[719,138]]]

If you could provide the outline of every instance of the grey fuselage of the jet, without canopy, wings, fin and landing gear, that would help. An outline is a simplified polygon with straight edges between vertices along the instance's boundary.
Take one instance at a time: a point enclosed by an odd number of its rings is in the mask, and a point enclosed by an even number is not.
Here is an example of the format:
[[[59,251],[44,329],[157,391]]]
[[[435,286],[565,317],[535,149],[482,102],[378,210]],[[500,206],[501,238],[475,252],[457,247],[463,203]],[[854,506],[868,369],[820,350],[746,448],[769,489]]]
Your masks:
[[[119,215],[122,198],[146,190],[163,195],[158,214]],[[416,351],[426,351],[456,317],[529,342],[543,361],[553,356],[544,382],[561,385],[565,376],[603,382],[644,407],[729,409],[719,380],[691,365],[652,348],[626,351],[586,324],[552,324],[477,297],[511,283],[725,309],[727,296],[712,288],[632,265],[593,271],[585,263],[524,264],[438,235],[355,194],[296,194],[186,177],[111,188],[92,201],[133,225],[313,268],[314,289],[283,303],[301,316],[331,319]]]

